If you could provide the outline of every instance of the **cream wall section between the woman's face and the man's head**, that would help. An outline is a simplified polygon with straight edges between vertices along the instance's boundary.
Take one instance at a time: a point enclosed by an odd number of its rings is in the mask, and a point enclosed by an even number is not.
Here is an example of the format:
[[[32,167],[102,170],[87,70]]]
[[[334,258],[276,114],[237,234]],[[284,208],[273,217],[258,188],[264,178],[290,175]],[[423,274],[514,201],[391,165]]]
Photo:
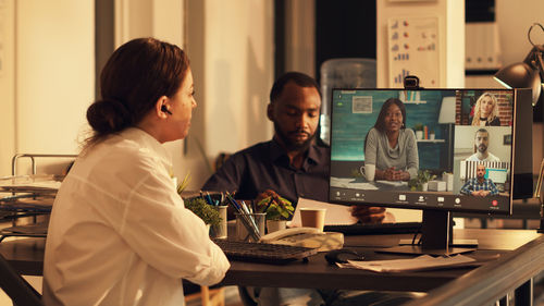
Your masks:
[[[272,12],[271,1],[206,1],[207,99],[201,103],[212,157],[272,135],[265,117],[273,83]]]

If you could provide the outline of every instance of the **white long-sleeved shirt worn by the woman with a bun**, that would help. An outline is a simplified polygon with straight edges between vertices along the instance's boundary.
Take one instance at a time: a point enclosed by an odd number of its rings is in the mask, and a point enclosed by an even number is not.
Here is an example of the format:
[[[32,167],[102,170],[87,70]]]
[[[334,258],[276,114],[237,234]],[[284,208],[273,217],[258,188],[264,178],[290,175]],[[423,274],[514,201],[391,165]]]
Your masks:
[[[168,151],[127,128],[82,155],[59,189],[44,266],[46,305],[184,305],[182,280],[230,268],[185,209]]]

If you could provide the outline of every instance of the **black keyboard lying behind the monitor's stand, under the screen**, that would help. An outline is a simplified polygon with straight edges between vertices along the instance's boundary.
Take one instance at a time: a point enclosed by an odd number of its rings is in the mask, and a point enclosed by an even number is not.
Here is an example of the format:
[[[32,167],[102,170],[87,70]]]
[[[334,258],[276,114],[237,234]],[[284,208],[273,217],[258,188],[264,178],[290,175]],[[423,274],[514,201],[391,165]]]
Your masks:
[[[386,234],[410,234],[421,229],[421,222],[396,222],[376,224],[335,224],[325,225],[325,232],[338,232],[344,235],[386,235]]]

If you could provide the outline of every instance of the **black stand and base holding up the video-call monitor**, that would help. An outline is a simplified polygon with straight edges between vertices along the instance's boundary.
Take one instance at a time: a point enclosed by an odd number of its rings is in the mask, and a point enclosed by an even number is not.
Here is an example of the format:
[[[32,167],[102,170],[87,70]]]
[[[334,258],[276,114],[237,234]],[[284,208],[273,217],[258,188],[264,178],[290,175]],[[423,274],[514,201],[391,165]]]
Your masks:
[[[421,244],[399,245],[388,248],[376,249],[379,253],[411,254],[411,255],[455,255],[469,253],[475,248],[456,247],[453,242],[453,219],[449,211],[423,210],[423,222],[421,225]],[[469,243],[469,244],[468,244]],[[462,241],[462,246],[477,246],[478,242]]]

